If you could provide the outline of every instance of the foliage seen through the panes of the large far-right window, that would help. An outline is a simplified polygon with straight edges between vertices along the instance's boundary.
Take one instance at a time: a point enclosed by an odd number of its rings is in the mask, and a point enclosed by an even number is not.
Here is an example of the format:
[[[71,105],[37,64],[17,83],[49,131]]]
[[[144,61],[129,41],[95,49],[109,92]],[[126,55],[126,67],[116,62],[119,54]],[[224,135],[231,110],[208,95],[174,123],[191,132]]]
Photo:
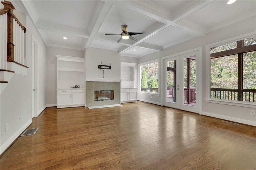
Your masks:
[[[256,44],[256,37],[244,40],[244,46]],[[224,44],[211,51],[236,48],[236,42]],[[211,59],[211,88],[234,88],[238,85],[238,55]],[[256,51],[243,53],[243,89],[256,89]]]

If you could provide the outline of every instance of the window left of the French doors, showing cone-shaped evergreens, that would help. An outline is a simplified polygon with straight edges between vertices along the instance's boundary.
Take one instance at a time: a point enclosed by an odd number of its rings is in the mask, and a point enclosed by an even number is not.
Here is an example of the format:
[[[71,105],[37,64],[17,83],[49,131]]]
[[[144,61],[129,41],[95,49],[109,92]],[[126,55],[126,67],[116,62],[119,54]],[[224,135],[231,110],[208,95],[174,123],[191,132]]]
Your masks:
[[[159,94],[159,60],[140,64],[140,86],[142,93]]]

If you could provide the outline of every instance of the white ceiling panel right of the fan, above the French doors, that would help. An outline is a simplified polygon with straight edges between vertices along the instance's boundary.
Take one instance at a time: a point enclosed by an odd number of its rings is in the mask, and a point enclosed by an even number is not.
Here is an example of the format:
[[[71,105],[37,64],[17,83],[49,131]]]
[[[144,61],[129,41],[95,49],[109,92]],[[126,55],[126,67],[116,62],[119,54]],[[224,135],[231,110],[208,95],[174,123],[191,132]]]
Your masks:
[[[181,29],[175,28],[173,26],[169,26],[163,31],[157,33],[156,35],[146,39],[145,43],[154,44],[157,46],[170,46],[174,44],[178,44],[189,39],[195,38],[195,35],[192,35],[188,32],[185,32]]]

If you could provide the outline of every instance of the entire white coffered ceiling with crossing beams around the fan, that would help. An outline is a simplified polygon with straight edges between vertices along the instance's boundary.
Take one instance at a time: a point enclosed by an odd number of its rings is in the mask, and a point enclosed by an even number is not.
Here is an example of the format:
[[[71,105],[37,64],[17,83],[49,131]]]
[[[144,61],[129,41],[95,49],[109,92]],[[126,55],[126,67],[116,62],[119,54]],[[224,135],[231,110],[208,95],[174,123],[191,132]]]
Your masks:
[[[48,46],[141,57],[256,15],[256,1],[21,1]],[[120,25],[145,31],[116,41]],[[68,39],[63,39],[67,37]],[[136,50],[136,51],[135,51]]]

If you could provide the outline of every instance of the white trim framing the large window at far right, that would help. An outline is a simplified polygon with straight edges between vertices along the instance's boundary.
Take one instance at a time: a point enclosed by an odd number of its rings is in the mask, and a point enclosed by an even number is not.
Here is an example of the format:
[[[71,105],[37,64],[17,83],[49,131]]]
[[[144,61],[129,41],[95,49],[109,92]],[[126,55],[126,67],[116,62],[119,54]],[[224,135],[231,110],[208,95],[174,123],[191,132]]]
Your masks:
[[[218,103],[218,104],[225,104],[225,105],[233,105],[233,106],[242,106],[242,107],[250,107],[256,108],[256,104],[254,102],[249,101],[237,101],[237,100],[226,100],[226,99],[215,99],[211,98],[211,59],[210,59],[210,52],[212,47],[221,46],[223,44],[231,43],[234,41],[244,40],[250,37],[255,37],[255,32],[250,32],[245,35],[241,35],[238,37],[230,38],[227,40],[219,41],[216,43],[212,43],[205,46],[205,66],[206,66],[206,74],[205,74],[205,85],[206,85],[206,96],[205,101],[209,103]]]

